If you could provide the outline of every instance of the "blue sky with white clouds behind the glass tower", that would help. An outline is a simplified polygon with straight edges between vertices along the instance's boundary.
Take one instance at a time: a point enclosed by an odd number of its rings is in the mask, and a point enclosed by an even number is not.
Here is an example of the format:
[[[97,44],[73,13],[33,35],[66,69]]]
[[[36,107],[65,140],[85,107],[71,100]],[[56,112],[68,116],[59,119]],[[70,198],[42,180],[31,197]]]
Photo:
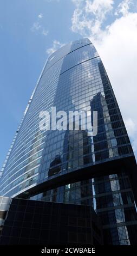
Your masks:
[[[137,152],[135,0],[1,0],[0,33],[0,165],[48,55],[83,36],[99,51]]]

